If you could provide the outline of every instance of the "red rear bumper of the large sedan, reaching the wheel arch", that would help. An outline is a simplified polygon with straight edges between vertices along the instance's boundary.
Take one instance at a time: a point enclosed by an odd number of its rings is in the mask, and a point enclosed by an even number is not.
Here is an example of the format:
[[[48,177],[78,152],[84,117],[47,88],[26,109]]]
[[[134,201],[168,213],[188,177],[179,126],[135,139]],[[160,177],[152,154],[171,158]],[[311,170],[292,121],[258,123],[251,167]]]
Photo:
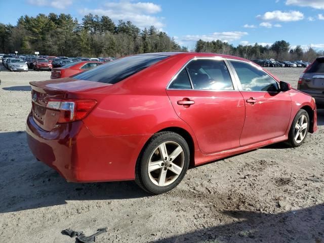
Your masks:
[[[44,131],[28,115],[28,145],[34,156],[70,182],[135,179],[135,165],[151,135],[104,136],[91,134],[83,121]]]

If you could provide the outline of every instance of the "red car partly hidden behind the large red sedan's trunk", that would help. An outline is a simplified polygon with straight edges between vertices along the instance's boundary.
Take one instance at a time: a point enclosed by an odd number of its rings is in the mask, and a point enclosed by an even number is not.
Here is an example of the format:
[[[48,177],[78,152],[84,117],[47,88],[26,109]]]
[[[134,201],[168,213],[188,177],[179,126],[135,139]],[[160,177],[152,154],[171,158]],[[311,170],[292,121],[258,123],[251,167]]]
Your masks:
[[[104,62],[96,62],[96,61],[72,62],[63,67],[53,68],[51,73],[51,78],[55,79],[61,77],[70,77],[74,74],[83,72],[87,69],[94,68],[103,63]]]

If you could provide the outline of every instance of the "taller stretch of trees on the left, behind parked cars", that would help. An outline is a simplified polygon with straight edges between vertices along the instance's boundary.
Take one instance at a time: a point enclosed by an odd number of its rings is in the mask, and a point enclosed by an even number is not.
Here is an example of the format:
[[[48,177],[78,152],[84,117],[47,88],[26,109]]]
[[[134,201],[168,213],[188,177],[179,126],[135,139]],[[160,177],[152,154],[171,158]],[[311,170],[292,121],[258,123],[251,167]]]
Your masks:
[[[140,29],[131,21],[115,24],[108,16],[88,14],[82,22],[69,14],[27,15],[16,26],[0,23],[0,53],[51,56],[121,57],[139,53],[187,51],[154,26]]]

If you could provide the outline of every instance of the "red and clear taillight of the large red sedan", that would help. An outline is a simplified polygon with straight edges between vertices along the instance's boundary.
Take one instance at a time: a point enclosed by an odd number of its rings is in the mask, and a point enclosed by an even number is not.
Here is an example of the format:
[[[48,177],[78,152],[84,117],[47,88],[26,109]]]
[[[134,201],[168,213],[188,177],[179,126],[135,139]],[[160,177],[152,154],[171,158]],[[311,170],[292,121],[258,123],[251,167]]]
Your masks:
[[[51,100],[46,107],[61,111],[57,123],[70,123],[85,118],[96,104],[96,100]]]

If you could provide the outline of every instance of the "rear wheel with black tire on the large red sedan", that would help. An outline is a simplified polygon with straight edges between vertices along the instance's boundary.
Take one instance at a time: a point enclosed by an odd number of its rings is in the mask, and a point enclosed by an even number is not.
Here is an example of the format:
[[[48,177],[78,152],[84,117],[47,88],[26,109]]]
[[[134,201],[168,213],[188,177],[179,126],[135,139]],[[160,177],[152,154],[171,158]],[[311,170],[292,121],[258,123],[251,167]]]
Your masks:
[[[153,135],[136,163],[135,182],[150,194],[175,188],[184,178],[190,161],[186,140],[174,132]]]

